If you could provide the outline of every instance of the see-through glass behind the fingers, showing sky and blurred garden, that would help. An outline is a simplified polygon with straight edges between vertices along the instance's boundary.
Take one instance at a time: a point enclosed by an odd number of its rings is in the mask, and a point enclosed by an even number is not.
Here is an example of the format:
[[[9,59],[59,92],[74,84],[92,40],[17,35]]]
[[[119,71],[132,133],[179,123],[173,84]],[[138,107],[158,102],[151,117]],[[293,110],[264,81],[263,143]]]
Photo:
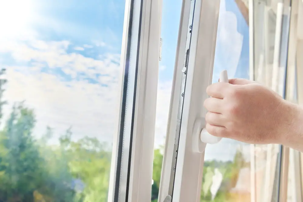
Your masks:
[[[249,78],[249,28],[244,16],[247,10],[244,2],[221,0],[213,82],[218,82],[224,69],[229,78]],[[227,138],[208,144],[201,201],[250,201],[250,172],[249,144]]]

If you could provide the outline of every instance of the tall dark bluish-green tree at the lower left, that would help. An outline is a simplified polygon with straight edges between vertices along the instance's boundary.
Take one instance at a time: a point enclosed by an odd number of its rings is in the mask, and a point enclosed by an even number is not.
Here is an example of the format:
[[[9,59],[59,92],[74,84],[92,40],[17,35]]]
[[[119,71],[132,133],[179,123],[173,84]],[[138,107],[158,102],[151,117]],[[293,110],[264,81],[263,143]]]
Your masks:
[[[43,182],[43,159],[32,138],[34,113],[22,103],[15,104],[2,131],[1,171],[7,201],[31,201],[34,190]]]

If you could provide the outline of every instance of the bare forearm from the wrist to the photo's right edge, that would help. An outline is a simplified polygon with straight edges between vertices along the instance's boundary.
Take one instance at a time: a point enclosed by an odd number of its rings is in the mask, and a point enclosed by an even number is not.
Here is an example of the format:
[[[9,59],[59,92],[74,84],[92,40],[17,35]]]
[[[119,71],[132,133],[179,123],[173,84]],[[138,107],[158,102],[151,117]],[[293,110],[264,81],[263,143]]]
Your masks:
[[[289,103],[289,112],[288,132],[282,134],[281,144],[303,152],[303,106]]]

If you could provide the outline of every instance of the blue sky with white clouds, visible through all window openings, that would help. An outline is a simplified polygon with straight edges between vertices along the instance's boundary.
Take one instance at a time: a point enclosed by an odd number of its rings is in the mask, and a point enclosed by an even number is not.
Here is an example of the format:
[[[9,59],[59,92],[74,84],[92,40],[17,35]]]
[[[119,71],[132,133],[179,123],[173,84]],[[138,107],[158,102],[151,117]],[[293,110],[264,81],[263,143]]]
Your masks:
[[[0,21],[8,26],[0,34],[0,65],[8,69],[6,99],[10,105],[26,100],[35,109],[38,137],[47,125],[54,128],[54,138],[72,125],[75,138],[112,142],[125,1],[24,1],[27,7],[17,9],[17,17],[15,5],[5,5],[14,26]],[[165,140],[181,3],[163,0],[156,146]],[[248,26],[234,0],[221,1],[218,26],[214,81],[225,68],[230,77],[248,78]],[[235,152],[230,151],[218,156],[230,159]]]

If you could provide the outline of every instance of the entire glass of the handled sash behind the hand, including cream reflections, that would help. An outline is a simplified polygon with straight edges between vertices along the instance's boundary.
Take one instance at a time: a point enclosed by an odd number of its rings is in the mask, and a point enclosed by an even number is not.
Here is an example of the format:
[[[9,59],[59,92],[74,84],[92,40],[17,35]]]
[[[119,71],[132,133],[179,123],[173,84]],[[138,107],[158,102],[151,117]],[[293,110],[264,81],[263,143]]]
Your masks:
[[[254,1],[254,76],[283,95],[289,6],[278,1],[265,3]],[[248,9],[248,1],[221,0],[213,82],[223,69],[230,78],[249,78],[248,12],[243,6]],[[207,145],[201,201],[276,201],[279,148],[230,139]]]

